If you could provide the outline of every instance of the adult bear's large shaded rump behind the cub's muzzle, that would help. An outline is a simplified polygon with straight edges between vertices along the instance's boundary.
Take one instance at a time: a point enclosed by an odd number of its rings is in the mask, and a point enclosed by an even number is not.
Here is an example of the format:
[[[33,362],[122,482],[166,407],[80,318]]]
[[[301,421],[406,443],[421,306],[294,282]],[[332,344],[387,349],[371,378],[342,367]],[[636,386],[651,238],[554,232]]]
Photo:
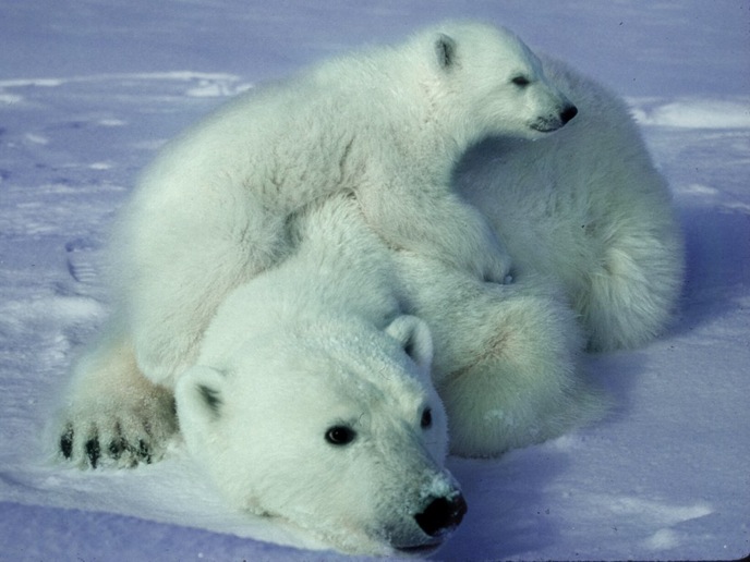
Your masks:
[[[543,61],[578,117],[533,143],[504,137],[476,147],[458,187],[489,218],[516,274],[561,283],[590,349],[641,345],[664,330],[682,283],[669,191],[625,103],[564,63]]]

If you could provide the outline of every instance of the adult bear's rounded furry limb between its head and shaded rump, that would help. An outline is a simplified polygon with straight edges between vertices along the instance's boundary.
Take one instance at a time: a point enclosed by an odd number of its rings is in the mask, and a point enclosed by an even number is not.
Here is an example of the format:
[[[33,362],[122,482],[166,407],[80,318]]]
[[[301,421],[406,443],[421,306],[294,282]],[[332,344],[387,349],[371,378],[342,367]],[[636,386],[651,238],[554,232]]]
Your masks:
[[[401,253],[398,262],[410,311],[433,333],[451,452],[496,456],[603,413],[580,377],[576,315],[553,280],[523,274],[499,285],[422,256]]]

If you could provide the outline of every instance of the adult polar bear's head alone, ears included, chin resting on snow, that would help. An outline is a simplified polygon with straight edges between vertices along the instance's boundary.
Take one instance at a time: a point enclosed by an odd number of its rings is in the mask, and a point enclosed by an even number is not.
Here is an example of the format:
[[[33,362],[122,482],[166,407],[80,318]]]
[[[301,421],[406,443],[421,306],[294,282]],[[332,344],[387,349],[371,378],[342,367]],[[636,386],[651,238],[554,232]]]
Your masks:
[[[192,454],[241,509],[352,553],[423,552],[465,503],[444,468],[446,416],[424,322],[298,326],[196,366],[177,388]]]

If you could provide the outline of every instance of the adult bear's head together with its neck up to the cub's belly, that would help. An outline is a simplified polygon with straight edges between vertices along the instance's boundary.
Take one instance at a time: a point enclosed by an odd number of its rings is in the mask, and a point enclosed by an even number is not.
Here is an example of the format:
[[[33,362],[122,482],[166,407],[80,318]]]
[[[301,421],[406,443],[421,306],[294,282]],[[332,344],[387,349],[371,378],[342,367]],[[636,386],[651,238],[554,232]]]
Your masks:
[[[443,467],[427,326],[353,198],[307,210],[299,251],[227,297],[177,384],[180,428],[223,496],[336,548],[424,552],[465,503]]]

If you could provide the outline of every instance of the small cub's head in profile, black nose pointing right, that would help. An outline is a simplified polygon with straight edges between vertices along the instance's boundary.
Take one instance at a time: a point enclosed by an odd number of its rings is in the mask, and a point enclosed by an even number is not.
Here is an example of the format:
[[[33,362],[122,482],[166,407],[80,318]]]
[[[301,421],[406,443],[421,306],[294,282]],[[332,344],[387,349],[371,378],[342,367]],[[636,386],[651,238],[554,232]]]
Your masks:
[[[462,144],[499,135],[536,138],[578,112],[507,29],[448,22],[414,40],[430,64],[425,87],[438,119]]]

